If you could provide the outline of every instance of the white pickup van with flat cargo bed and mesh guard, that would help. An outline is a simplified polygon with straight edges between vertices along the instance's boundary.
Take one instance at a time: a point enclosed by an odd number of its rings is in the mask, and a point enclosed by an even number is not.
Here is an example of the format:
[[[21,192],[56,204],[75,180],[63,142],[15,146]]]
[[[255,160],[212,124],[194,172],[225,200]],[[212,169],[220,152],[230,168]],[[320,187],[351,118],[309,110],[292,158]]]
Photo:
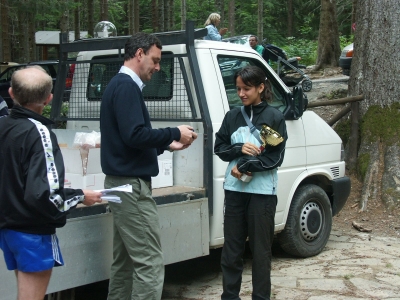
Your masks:
[[[160,166],[162,161],[170,159],[172,172],[170,186],[153,190],[159,208],[165,263],[207,255],[210,248],[223,246],[223,181],[227,163],[213,153],[214,136],[225,114],[241,105],[233,75],[246,65],[257,65],[266,72],[273,87],[271,105],[286,118],[289,139],[284,162],[278,169],[275,215],[278,241],[292,255],[317,255],[328,241],[332,217],[342,209],[350,193],[342,141],[325,121],[306,110],[307,99],[301,88],[289,90],[254,50],[231,43],[204,41],[201,38],[206,34],[205,29],[195,30],[192,22],[188,22],[186,28],[186,31],[157,34],[163,43],[161,71],[153,75],[143,90],[154,128],[186,123],[199,135],[188,149],[160,159]],[[66,121],[67,131],[99,130],[102,92],[123,63],[127,38],[91,39],[60,45],[65,58],[70,52],[79,52],[68,114],[61,113],[60,95],[64,88],[61,84],[56,86],[52,104],[52,118]],[[60,66],[65,72],[58,73],[66,74],[69,64],[67,59],[62,59]],[[59,136],[63,135],[61,132],[56,131]],[[91,156],[89,151],[89,161],[91,157],[92,165],[100,165],[98,156]],[[74,163],[81,162],[71,162]],[[78,224],[79,232],[72,233]],[[69,241],[60,236],[65,243],[61,247],[65,256],[73,255],[71,260],[79,265],[57,268],[63,270],[60,273],[55,270],[49,291],[108,278],[112,256],[111,224],[112,214],[107,203],[71,213],[58,235],[74,236]],[[92,234],[90,226],[96,226],[96,238],[87,238]],[[82,242],[75,243],[76,240]],[[84,254],[80,255],[86,252],[94,253],[91,261],[96,264],[87,264]],[[61,280],[61,276],[67,276],[69,281]]]

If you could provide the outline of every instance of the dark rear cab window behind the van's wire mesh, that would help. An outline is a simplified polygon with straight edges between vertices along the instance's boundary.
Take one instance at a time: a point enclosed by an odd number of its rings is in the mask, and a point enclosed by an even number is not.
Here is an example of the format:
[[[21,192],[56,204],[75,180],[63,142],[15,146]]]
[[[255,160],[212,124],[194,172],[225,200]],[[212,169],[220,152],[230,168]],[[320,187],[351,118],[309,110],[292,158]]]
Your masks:
[[[97,60],[97,61],[96,61]],[[110,80],[119,72],[123,64],[117,55],[93,57],[89,69],[87,85],[88,100],[100,101]],[[173,92],[173,59],[163,58],[161,70],[145,82],[143,89],[144,100],[170,100]]]

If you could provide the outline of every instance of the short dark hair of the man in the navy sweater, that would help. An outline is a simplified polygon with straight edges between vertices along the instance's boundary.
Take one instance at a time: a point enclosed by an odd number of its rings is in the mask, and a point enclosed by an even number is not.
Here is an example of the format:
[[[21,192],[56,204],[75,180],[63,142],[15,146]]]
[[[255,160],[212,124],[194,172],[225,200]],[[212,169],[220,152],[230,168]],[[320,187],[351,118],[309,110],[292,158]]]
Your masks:
[[[125,43],[124,61],[135,57],[135,53],[139,48],[143,49],[145,54],[155,45],[158,49],[162,49],[161,41],[152,34],[139,32],[132,35]]]

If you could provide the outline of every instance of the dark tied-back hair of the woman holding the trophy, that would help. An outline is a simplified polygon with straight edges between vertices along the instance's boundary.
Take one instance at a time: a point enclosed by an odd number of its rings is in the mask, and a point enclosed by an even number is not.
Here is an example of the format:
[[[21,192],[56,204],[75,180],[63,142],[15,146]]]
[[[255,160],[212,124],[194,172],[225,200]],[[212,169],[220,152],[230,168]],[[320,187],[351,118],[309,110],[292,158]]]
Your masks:
[[[240,77],[243,83],[247,86],[259,86],[264,83],[264,92],[261,93],[261,100],[267,102],[272,101],[271,84],[269,83],[264,71],[257,66],[246,66],[240,71],[236,72],[233,77],[234,84],[236,85],[236,79]]]

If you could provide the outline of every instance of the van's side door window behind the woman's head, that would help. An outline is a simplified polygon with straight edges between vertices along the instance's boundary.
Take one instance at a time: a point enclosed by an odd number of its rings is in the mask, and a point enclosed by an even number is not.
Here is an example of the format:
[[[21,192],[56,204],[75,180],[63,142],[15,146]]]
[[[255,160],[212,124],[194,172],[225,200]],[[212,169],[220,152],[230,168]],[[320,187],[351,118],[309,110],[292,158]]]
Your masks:
[[[262,65],[258,60],[249,57],[237,57],[228,55],[218,55],[218,65],[221,71],[221,76],[225,85],[226,97],[228,98],[229,108],[235,108],[237,106],[242,106],[242,101],[240,100],[236,92],[236,84],[234,82],[234,76],[236,72],[241,70],[243,67],[251,65],[258,66],[264,70],[267,74],[268,80],[270,80],[272,88],[272,102],[269,104],[278,108],[280,111],[284,112],[287,104],[286,98],[284,96],[283,90],[280,88],[278,82],[274,81],[272,76],[268,76],[270,71]]]

